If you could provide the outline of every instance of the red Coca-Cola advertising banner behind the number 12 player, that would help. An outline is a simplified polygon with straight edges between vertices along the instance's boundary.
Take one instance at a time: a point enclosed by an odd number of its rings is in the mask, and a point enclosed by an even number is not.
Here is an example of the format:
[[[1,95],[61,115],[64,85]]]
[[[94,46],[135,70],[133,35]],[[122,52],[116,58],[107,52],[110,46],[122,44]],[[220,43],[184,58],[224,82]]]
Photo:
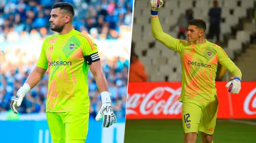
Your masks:
[[[216,82],[218,118],[256,119],[256,82],[242,82],[238,95]],[[181,82],[129,83],[126,119],[181,119]]]

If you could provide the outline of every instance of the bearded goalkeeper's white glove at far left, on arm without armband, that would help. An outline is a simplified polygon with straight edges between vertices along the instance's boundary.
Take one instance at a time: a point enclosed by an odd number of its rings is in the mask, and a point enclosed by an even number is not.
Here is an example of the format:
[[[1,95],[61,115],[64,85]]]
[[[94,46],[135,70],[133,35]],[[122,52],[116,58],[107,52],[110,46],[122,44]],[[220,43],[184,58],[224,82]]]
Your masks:
[[[23,98],[25,97],[25,95],[29,92],[30,90],[30,86],[29,84],[25,83],[23,86],[21,86],[16,94],[16,96],[14,97],[13,100],[11,100],[10,103],[10,109],[17,114],[18,111],[16,110],[15,107],[19,107],[21,105],[21,102],[23,100]]]

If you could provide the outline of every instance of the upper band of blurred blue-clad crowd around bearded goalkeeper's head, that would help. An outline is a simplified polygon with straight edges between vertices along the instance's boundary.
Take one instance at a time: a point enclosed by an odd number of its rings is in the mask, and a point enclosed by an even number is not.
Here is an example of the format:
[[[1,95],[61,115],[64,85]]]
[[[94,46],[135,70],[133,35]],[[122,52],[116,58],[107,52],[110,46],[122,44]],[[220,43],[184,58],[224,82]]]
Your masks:
[[[68,2],[75,8],[74,28],[97,39],[117,39],[122,25],[131,26],[132,0],[2,0],[0,42],[40,39],[50,30],[51,5]]]

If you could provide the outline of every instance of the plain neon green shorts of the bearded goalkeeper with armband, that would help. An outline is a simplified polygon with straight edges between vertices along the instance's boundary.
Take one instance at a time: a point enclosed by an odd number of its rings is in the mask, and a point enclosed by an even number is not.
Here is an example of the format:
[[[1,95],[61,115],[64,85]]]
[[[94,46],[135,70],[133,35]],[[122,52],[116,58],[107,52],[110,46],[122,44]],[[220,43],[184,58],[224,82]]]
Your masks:
[[[46,112],[53,143],[85,143],[88,112]]]

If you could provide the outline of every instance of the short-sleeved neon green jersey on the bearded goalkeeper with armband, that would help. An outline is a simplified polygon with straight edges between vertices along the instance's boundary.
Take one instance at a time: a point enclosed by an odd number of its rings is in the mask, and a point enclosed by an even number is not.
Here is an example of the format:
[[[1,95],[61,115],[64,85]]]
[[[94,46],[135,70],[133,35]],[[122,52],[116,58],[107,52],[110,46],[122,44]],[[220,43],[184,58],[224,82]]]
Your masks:
[[[98,60],[94,41],[74,29],[46,37],[37,63],[49,71],[46,112],[89,111],[88,63]]]

